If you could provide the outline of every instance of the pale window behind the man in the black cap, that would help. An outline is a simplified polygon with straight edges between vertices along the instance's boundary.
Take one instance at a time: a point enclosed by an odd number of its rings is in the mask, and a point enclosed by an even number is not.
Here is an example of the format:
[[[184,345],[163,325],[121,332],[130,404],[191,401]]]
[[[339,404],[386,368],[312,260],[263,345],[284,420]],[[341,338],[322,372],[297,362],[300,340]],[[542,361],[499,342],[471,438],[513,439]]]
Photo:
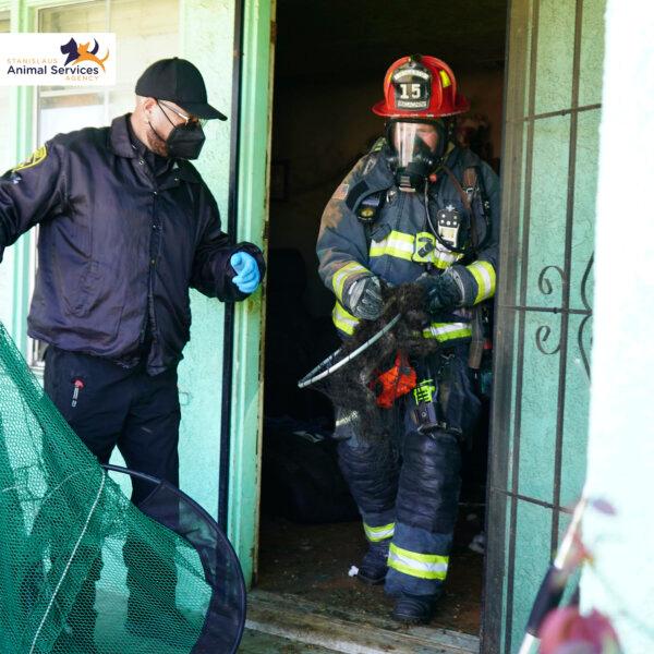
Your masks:
[[[62,132],[108,125],[116,116],[133,109],[134,85],[143,70],[158,59],[179,56],[179,0],[100,0],[50,7],[38,12],[38,31],[114,32],[118,58],[114,87],[38,87],[36,141],[40,145]],[[31,292],[36,242],[34,238]],[[31,365],[43,365],[44,351],[43,343],[31,340]]]

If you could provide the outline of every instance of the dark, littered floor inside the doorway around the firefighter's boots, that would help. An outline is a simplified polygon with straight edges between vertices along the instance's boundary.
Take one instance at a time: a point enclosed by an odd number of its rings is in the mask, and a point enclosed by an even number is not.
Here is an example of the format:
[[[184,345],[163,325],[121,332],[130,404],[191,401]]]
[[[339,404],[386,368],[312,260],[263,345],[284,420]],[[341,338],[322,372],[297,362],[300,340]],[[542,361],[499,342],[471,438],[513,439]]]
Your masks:
[[[461,507],[444,597],[431,627],[477,634],[483,556],[468,545],[481,531],[475,507]],[[256,589],[295,595],[341,614],[351,609],[387,616],[392,601],[383,586],[366,586],[348,576],[365,549],[360,522],[302,525],[267,518],[261,525],[259,574]]]

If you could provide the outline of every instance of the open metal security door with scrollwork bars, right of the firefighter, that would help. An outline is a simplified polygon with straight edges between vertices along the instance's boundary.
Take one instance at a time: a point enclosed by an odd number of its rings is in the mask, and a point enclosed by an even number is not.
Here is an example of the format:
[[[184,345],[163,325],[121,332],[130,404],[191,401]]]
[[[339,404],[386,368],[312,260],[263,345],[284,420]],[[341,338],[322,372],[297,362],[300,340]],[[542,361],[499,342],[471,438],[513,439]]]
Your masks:
[[[604,4],[510,9],[484,652],[517,651],[585,474]]]

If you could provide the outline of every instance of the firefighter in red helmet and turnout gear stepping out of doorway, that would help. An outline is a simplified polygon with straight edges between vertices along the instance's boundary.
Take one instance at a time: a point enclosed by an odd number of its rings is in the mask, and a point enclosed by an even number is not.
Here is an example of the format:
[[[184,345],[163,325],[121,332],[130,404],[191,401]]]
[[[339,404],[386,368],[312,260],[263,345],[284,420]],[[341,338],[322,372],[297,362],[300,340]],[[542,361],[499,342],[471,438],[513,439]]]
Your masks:
[[[438,349],[412,362],[417,385],[387,412],[388,451],[366,440],[355,413],[337,408],[335,429],[368,542],[359,579],[385,583],[396,619],[426,622],[449,566],[461,444],[480,412],[469,355],[495,293],[499,183],[453,143],[452,117],[469,102],[445,62],[399,59],[384,96],[373,111],[386,118],[385,136],[334,193],[316,250],[344,338],[379,317],[386,284],[419,280],[426,290],[422,336]]]

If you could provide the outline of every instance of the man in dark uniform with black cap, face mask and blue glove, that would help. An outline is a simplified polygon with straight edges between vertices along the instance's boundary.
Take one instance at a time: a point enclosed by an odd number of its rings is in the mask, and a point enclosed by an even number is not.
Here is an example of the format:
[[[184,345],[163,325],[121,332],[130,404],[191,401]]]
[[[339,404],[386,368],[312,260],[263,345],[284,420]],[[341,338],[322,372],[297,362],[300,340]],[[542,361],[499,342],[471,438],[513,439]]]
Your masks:
[[[227,120],[207,102],[199,71],[183,59],[157,61],[135,90],[134,111],[110,128],[59,134],[0,178],[0,261],[39,226],[28,334],[49,344],[46,391],[100,462],[118,447],[129,468],[178,485],[177,367],[190,337],[189,289],[241,301],[265,265],[258,247],[222,232],[216,201],[189,162],[201,153],[205,121]],[[132,500],[147,492],[135,481]],[[138,552],[128,540],[128,566]],[[99,567],[77,598],[87,606],[75,615],[88,621],[72,626],[77,643],[86,634],[87,651],[95,651],[88,586]],[[161,590],[174,604],[168,582]]]

